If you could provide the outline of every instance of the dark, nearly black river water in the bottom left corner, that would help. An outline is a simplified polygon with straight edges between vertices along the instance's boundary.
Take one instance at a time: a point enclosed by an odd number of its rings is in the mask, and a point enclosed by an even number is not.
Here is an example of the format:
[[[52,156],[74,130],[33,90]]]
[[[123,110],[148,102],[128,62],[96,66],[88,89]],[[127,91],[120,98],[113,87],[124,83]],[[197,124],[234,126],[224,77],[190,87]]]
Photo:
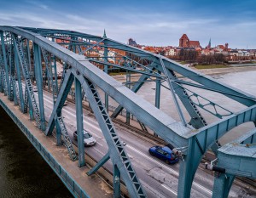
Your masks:
[[[73,197],[1,106],[0,197]]]

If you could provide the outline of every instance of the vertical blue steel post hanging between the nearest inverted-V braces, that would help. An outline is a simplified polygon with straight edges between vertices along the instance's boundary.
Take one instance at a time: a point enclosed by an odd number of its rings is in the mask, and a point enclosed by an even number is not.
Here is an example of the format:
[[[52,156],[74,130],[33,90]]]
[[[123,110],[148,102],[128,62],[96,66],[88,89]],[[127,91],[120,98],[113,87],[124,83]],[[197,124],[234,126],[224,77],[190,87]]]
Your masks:
[[[79,167],[84,167],[84,124],[83,124],[83,106],[82,106],[82,89],[81,83],[75,79],[75,100],[77,116],[77,134],[79,145]]]

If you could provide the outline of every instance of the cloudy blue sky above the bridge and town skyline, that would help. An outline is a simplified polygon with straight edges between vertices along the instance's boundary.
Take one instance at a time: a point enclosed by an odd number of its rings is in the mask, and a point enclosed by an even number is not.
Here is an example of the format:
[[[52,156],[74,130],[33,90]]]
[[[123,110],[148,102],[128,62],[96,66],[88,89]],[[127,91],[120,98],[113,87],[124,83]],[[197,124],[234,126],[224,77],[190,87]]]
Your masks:
[[[178,46],[186,33],[206,47],[256,48],[255,0],[3,0],[0,25],[67,29],[127,43]]]

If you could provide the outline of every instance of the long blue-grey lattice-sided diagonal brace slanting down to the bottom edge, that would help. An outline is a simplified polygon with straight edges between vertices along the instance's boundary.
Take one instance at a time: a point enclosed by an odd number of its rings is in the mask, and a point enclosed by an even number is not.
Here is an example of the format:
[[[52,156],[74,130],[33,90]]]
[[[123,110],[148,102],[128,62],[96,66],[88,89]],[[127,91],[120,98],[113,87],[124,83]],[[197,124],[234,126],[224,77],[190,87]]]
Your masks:
[[[79,79],[82,87],[84,88],[84,92],[89,99],[90,106],[95,113],[96,119],[99,122],[99,125],[102,128],[102,133],[107,141],[113,166],[116,165],[119,168],[119,172],[124,179],[129,194],[131,197],[146,197],[143,186],[137,178],[129,156],[126,154],[123,144],[121,144],[119,136],[113,127],[113,123],[108,116],[105,106],[102,104],[96,88],[93,83],[85,79],[84,76],[77,75],[75,71],[73,71],[73,75]]]

